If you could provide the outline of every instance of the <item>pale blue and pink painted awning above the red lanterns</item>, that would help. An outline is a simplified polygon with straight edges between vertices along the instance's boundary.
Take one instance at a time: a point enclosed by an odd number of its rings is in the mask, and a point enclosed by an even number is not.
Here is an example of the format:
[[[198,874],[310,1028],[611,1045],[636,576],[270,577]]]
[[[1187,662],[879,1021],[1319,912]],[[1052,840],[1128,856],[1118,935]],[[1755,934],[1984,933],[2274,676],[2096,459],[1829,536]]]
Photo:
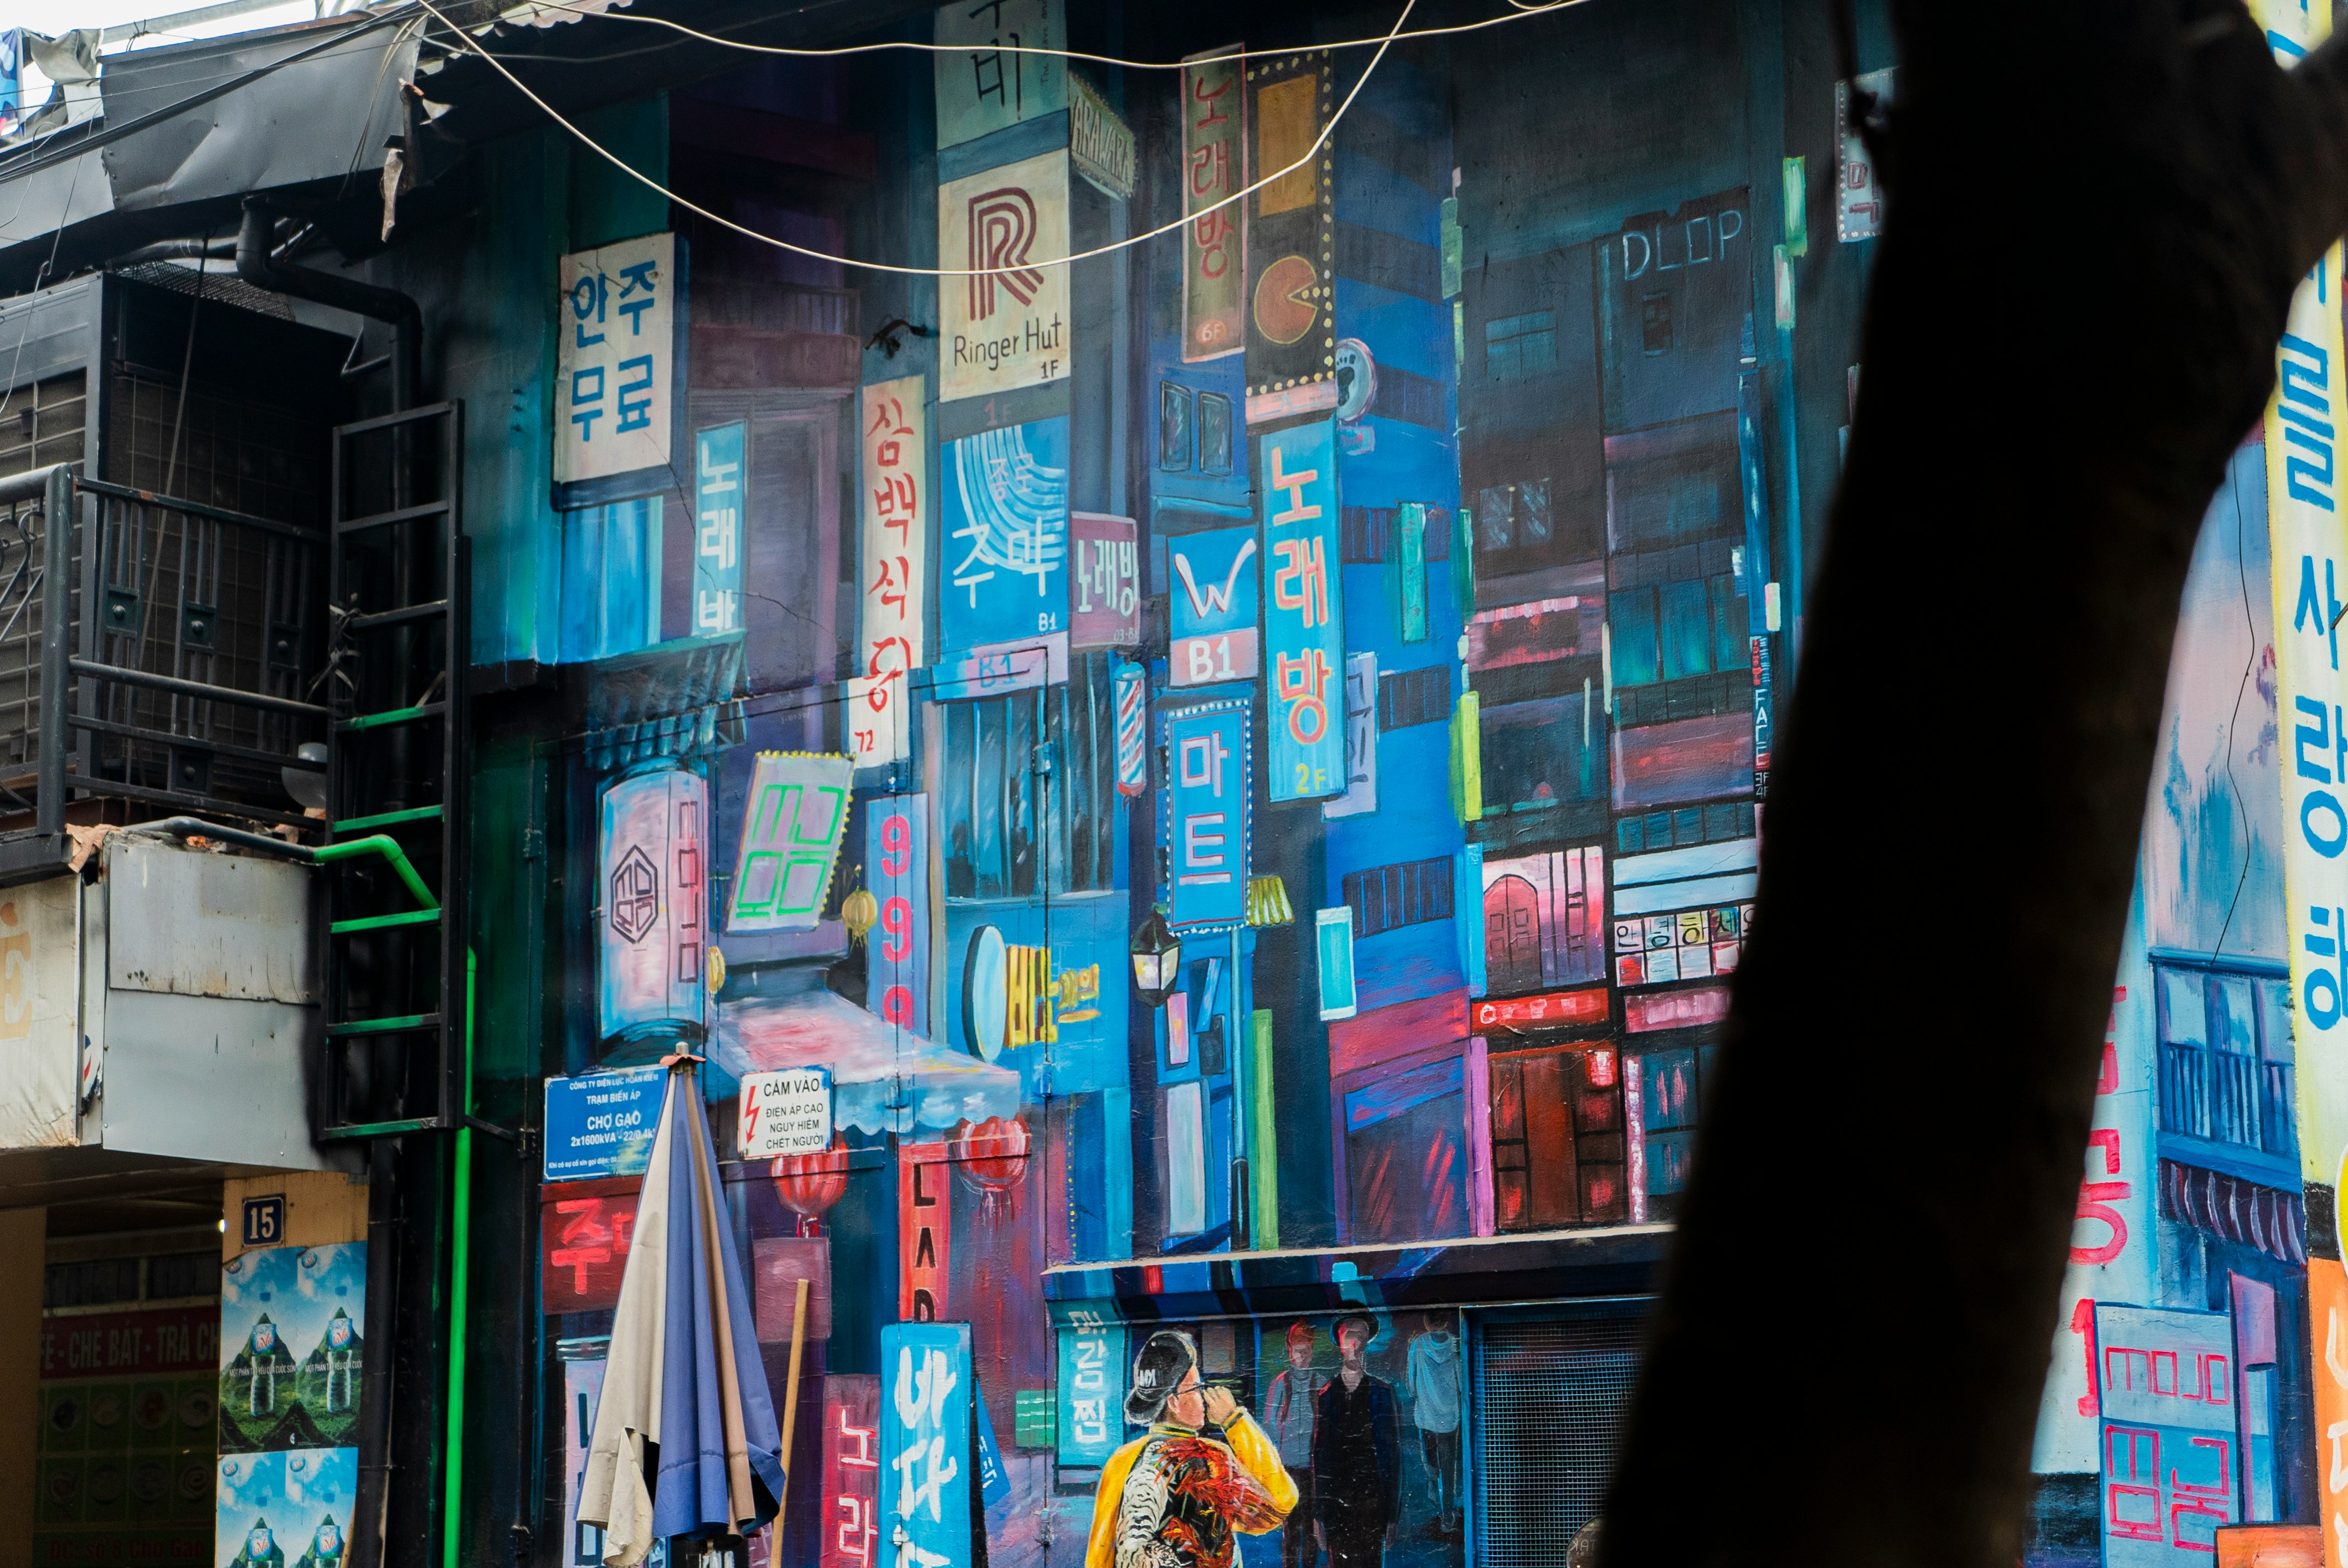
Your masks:
[[[794,981],[803,988],[718,1005],[711,1099],[740,1094],[744,1073],[831,1068],[834,1127],[909,1134],[1019,1115],[1019,1073],[876,1019],[826,991],[822,969]]]

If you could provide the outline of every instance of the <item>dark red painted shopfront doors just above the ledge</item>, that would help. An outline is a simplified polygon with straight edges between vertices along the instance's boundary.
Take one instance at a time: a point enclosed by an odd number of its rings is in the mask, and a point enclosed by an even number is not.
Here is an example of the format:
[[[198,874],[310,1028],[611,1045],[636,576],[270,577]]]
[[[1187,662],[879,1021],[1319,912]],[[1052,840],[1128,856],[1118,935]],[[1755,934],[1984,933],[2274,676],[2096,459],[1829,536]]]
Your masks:
[[[1613,1045],[1491,1059],[1493,1223],[1554,1230],[1630,1218]]]

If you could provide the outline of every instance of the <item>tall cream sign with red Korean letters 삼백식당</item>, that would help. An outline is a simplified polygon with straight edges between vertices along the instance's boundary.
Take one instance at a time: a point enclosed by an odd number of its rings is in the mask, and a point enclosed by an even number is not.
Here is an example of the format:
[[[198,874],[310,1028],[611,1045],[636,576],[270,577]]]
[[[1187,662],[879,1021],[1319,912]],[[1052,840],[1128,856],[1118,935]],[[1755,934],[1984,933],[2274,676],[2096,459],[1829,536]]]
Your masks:
[[[927,383],[902,376],[864,387],[862,512],[864,622],[848,728],[857,768],[902,761],[913,704],[906,681],[923,667],[930,603],[930,413]]]

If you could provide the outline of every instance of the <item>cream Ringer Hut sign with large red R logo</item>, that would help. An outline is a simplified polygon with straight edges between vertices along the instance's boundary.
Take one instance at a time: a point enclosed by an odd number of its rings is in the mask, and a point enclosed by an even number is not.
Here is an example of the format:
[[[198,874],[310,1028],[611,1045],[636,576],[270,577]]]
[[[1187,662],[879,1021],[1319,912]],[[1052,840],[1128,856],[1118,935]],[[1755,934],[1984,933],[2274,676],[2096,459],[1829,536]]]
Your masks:
[[[939,401],[1068,373],[1066,148],[939,185],[937,256]]]

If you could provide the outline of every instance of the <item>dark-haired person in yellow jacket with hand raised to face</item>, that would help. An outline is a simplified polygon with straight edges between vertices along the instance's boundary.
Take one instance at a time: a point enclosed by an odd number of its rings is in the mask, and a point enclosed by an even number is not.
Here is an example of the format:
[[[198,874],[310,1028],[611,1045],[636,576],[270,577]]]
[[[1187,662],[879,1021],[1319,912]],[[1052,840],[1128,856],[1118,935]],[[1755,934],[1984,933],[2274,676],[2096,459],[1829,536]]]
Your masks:
[[[1230,1568],[1235,1530],[1277,1530],[1296,1507],[1280,1448],[1230,1390],[1200,1383],[1188,1333],[1148,1338],[1125,1418],[1148,1432],[1101,1469],[1085,1568]]]

